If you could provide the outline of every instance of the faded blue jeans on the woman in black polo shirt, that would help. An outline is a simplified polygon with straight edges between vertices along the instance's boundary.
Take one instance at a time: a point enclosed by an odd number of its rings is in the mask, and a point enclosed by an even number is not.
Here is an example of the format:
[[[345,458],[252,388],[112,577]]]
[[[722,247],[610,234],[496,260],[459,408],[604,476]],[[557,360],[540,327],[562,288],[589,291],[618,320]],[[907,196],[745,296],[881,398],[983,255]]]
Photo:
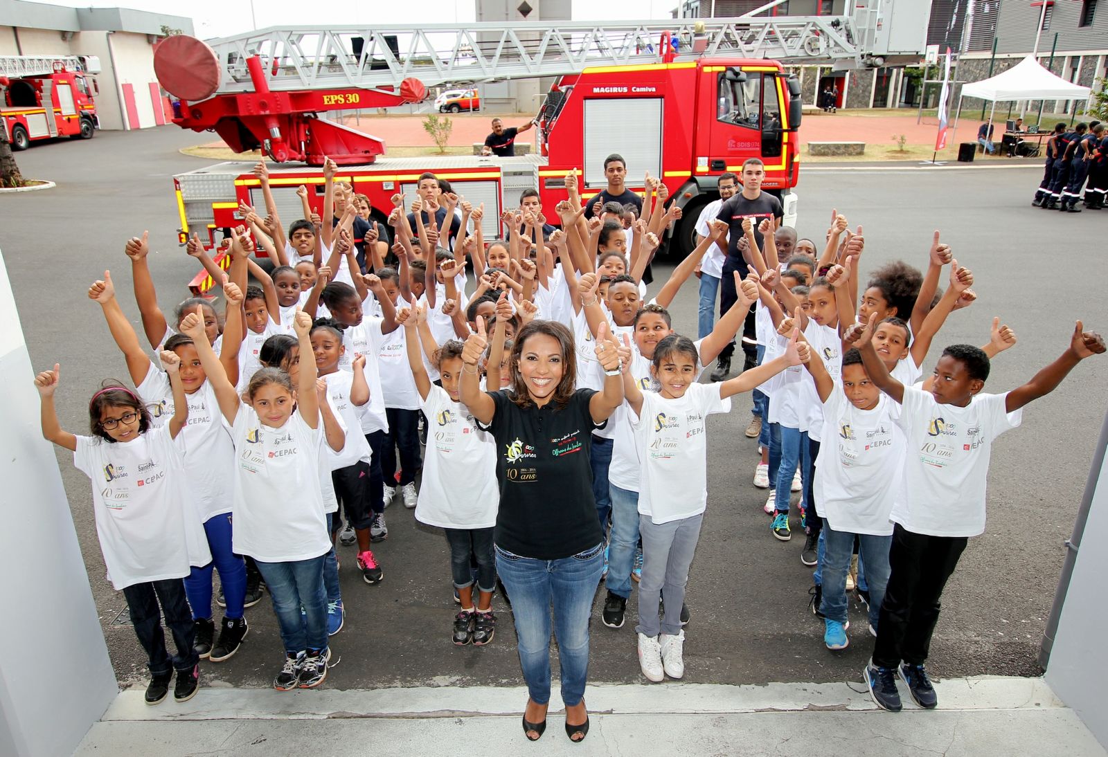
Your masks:
[[[562,702],[570,707],[577,705],[588,678],[588,619],[604,571],[604,542],[558,560],[537,560],[495,549],[496,573],[512,598],[520,665],[531,701],[544,705],[551,698],[553,603],[562,661]]]

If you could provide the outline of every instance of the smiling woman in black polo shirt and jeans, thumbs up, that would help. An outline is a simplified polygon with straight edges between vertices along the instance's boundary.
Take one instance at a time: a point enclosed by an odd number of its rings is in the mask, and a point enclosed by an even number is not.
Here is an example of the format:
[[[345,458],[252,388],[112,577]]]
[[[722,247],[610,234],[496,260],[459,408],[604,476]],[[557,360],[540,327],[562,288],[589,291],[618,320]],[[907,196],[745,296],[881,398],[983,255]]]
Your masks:
[[[596,344],[606,376],[602,392],[574,390],[573,334],[554,321],[532,321],[516,335],[509,391],[480,388],[478,361],[485,349],[480,318],[462,352],[462,403],[496,439],[496,572],[512,600],[531,695],[523,730],[532,740],[546,728],[552,602],[565,732],[574,742],[588,733],[588,619],[604,569],[588,454],[593,429],[623,402],[623,365],[605,324]]]

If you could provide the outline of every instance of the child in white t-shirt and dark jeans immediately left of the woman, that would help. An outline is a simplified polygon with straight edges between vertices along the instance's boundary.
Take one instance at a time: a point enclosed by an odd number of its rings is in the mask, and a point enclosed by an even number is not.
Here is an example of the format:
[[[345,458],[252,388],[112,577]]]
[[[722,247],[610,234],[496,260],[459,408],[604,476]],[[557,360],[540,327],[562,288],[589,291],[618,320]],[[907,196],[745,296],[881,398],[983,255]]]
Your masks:
[[[437,386],[423,366],[418,333],[428,329],[427,305],[416,303],[401,310],[397,319],[407,332],[408,365],[429,426],[416,519],[447,531],[451,573],[462,605],[453,621],[453,643],[463,646],[472,642],[482,646],[493,640],[496,631],[496,618],[492,612],[492,594],[496,588],[493,527],[500,505],[495,444],[459,401],[462,342],[450,340],[428,355],[440,375],[442,385]],[[430,333],[425,335],[430,340]],[[475,608],[474,583],[478,589]]]

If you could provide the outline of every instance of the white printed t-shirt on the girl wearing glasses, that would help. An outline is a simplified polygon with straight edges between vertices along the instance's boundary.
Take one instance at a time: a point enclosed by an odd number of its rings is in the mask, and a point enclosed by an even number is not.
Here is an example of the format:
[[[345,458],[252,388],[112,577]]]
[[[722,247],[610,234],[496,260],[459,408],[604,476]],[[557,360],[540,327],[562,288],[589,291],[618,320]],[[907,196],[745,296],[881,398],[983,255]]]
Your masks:
[[[73,465],[92,481],[96,537],[115,589],[184,578],[212,562],[204,525],[186,502],[183,445],[168,426],[125,443],[76,437]]]

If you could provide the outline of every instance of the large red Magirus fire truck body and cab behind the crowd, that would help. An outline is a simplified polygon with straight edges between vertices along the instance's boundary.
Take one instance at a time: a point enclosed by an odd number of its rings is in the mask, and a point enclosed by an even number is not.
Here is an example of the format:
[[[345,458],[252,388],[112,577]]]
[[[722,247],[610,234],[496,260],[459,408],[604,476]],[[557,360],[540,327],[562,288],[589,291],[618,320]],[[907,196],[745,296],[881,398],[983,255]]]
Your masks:
[[[384,222],[397,191],[414,198],[420,174],[433,172],[455,193],[485,204],[486,239],[499,236],[502,210],[519,207],[523,189],[537,188],[548,216],[566,198],[565,176],[583,173],[582,194],[603,189],[604,158],[619,153],[627,162],[628,186],[643,189],[645,175],[660,178],[685,210],[673,231],[676,251],[691,249],[700,209],[718,197],[719,174],[739,173],[749,157],[766,164],[768,191],[781,197],[788,219],[796,217],[791,188],[799,176],[801,103],[799,85],[780,63],[766,60],[700,59],[690,62],[586,69],[563,76],[540,113],[542,151],[499,157],[412,157],[376,159],[343,166],[336,180],[349,182],[369,197]],[[258,180],[244,163],[220,163],[174,177],[181,212],[181,239],[202,231],[213,246],[217,230],[239,222],[239,200],[261,204]],[[281,218],[302,215],[298,186],[321,212],[324,176],[316,166],[270,165],[270,185]],[[554,219],[552,219],[554,220]],[[556,222],[556,221],[555,221]],[[206,232],[203,230],[206,229]],[[206,277],[192,284],[209,286]]]

